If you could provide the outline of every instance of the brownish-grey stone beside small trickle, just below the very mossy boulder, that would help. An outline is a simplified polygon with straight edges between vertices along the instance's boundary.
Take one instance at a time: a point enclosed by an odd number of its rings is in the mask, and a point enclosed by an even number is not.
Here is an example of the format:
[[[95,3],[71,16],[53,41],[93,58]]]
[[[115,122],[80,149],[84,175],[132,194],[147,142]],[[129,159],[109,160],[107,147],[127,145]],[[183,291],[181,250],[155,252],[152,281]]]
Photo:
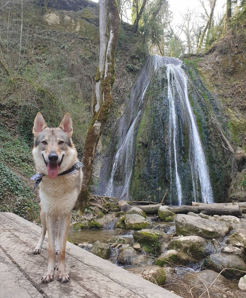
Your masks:
[[[117,260],[117,263],[119,265],[132,265],[137,267],[149,265],[151,262],[153,262],[153,259],[151,257],[142,255],[133,247],[129,246],[129,244],[122,245]]]

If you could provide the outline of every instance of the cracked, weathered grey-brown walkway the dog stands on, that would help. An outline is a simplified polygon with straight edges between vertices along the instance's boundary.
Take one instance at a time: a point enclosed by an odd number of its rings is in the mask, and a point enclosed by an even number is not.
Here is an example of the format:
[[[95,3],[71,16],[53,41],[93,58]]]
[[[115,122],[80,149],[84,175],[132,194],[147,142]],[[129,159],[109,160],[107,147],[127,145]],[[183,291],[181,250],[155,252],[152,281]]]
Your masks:
[[[48,264],[48,239],[33,255],[41,228],[13,213],[0,213],[1,298],[179,298],[74,244],[66,245],[70,280],[41,283]],[[47,233],[46,233],[47,235]]]

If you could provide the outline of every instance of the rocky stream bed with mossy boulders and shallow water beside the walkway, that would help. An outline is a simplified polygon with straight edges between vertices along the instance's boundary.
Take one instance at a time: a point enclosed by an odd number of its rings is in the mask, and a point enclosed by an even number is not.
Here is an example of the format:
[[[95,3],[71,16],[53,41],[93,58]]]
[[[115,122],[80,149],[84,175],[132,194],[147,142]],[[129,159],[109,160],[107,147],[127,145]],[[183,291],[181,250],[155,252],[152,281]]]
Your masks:
[[[98,223],[93,220],[104,229],[81,230],[85,224],[74,222],[69,238],[182,297],[245,297],[244,216],[176,214],[159,204],[153,207],[156,214],[148,217],[144,208],[118,205],[124,212],[108,214]]]

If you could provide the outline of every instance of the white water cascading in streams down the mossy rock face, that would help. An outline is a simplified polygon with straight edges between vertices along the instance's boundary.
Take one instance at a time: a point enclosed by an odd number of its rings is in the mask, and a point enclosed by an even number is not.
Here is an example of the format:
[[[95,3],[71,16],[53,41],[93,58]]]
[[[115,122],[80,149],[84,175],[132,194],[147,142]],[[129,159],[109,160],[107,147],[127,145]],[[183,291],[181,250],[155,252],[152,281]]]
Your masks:
[[[119,143],[118,149],[115,155],[115,159],[113,162],[112,171],[110,174],[110,179],[104,193],[108,196],[118,196],[126,194],[125,199],[130,199],[129,195],[129,187],[131,182],[131,176],[133,174],[134,169],[134,156],[136,151],[136,137],[137,137],[137,129],[140,127],[139,122],[143,121],[145,117],[145,113],[142,112],[142,108],[144,105],[144,96],[145,92],[148,88],[149,82],[151,81],[155,70],[160,69],[162,66],[165,68],[165,79],[167,81],[165,96],[163,96],[162,108],[165,107],[166,111],[160,111],[160,113],[165,113],[165,115],[169,115],[169,117],[165,118],[164,116],[159,117],[160,131],[161,123],[163,123],[163,127],[167,125],[167,129],[162,132],[166,133],[167,137],[162,136],[166,144],[166,150],[164,150],[165,144],[159,146],[163,148],[163,153],[161,153],[161,149],[153,150],[153,153],[149,154],[148,159],[146,160],[146,169],[142,172],[147,176],[148,180],[148,169],[147,164],[149,163],[150,171],[153,173],[157,173],[157,165],[155,165],[155,158],[158,158],[158,154],[162,154],[168,157],[164,157],[164,159],[168,160],[169,167],[167,168],[167,163],[165,165],[161,164],[159,161],[157,162],[158,167],[167,172],[169,169],[169,173],[165,174],[165,181],[169,184],[169,199],[170,203],[173,204],[174,201],[177,202],[175,204],[181,205],[184,203],[183,197],[185,196],[184,189],[184,181],[185,175],[189,175],[188,180],[191,182],[192,188],[192,198],[194,201],[201,200],[203,202],[211,203],[213,202],[212,196],[212,188],[209,180],[208,167],[205,160],[205,155],[203,152],[203,147],[201,144],[198,128],[196,125],[196,116],[193,113],[187,90],[187,76],[184,70],[181,68],[182,62],[177,58],[171,57],[159,57],[152,56],[149,58],[148,62],[145,64],[136,85],[132,89],[131,97],[129,98],[126,110],[124,115],[121,117],[119,122]],[[163,69],[163,67],[161,69]],[[165,85],[165,84],[164,84]],[[162,87],[161,87],[162,88]],[[164,88],[164,89],[165,89]],[[154,97],[151,95],[152,102],[161,101],[161,97]],[[161,105],[160,105],[161,106]],[[157,109],[158,111],[158,109]],[[158,117],[157,117],[158,118]],[[164,120],[164,118],[166,120]],[[152,116],[153,119],[153,116]],[[163,122],[164,121],[164,122]],[[165,122],[168,122],[166,124]],[[152,120],[153,122],[153,120]],[[185,127],[185,128],[184,128]],[[188,166],[185,164],[185,167],[188,169],[186,174],[184,174],[184,162],[181,157],[181,149],[180,147],[183,145],[184,147],[184,132],[183,130],[187,130],[187,143],[188,147]],[[166,140],[168,139],[168,140]],[[146,145],[150,149],[153,143],[158,143],[158,140],[152,139],[148,140],[149,145]],[[161,143],[161,139],[160,142]],[[141,144],[138,144],[140,146]],[[158,145],[158,144],[157,144]],[[155,145],[153,145],[155,146]],[[147,150],[149,150],[147,148]],[[158,154],[155,154],[158,153]],[[146,157],[147,158],[147,157]],[[137,159],[135,161],[136,166]],[[159,170],[160,171],[160,170]],[[188,173],[189,172],[189,173]],[[136,175],[134,173],[134,175]],[[151,176],[151,175],[150,175]],[[151,188],[156,188],[155,184],[158,180],[156,174],[153,174],[153,183],[150,186],[146,187],[146,193]],[[191,176],[191,178],[190,178]],[[149,177],[149,180],[150,177]],[[160,182],[158,182],[158,189],[163,188]],[[146,183],[147,184],[147,183]],[[157,184],[156,184],[157,185]],[[156,188],[157,189],[157,188]],[[147,197],[147,195],[146,195]],[[174,200],[174,197],[176,200]],[[184,201],[183,201],[184,200]]]

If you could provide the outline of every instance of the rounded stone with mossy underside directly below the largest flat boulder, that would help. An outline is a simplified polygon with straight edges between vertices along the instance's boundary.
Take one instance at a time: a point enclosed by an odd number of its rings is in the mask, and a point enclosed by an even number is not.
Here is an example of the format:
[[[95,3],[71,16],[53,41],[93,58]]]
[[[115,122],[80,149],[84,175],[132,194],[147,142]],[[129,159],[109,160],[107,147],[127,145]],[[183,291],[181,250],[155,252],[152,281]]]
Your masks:
[[[184,252],[189,256],[192,256],[196,260],[205,258],[208,242],[199,236],[185,236],[179,238],[173,238],[168,244],[167,248],[175,249],[178,252]]]

